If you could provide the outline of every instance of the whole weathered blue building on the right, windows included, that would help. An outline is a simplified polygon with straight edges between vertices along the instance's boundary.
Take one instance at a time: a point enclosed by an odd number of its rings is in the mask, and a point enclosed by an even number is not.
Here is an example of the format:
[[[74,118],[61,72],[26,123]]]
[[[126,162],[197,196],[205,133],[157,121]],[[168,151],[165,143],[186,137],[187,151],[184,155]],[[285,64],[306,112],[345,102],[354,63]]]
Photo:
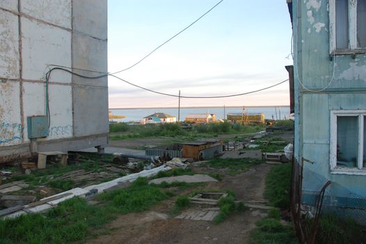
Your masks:
[[[319,191],[331,181],[324,211],[366,223],[366,1],[287,3],[302,203],[315,206]]]

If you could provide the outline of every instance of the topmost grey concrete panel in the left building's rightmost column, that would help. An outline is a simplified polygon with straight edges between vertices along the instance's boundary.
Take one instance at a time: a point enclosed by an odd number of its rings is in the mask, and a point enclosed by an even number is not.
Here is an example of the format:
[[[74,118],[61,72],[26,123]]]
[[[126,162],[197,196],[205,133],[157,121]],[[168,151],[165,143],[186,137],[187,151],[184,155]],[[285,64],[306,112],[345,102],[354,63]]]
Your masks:
[[[72,1],[72,29],[95,38],[107,38],[106,0]]]

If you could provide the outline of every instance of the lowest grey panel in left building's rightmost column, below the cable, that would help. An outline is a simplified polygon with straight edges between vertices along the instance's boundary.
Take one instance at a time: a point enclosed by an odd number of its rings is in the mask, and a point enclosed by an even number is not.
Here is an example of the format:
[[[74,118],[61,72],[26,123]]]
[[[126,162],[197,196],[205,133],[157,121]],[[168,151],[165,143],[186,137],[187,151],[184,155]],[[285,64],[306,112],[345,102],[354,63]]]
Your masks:
[[[108,89],[77,87],[74,93],[74,135],[93,135],[109,132]]]

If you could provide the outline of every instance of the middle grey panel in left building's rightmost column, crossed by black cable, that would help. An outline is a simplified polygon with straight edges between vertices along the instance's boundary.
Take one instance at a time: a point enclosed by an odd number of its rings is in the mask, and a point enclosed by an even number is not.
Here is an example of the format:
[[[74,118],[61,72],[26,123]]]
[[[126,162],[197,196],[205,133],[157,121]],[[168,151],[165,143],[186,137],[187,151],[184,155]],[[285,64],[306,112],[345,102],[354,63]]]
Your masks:
[[[72,35],[72,66],[74,68],[96,70],[107,72],[107,43],[106,40],[97,40],[74,33]],[[101,73],[93,73],[81,70],[74,72],[86,76],[97,76]],[[72,77],[74,84],[84,84],[93,86],[108,86],[107,77],[100,79],[84,79],[74,75]]]

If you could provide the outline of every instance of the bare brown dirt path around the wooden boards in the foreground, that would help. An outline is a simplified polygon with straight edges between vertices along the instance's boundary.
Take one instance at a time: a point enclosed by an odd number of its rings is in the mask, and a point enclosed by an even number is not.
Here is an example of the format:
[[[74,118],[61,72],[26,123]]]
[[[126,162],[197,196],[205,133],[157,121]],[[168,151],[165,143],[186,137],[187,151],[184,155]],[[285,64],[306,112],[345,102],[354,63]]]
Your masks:
[[[239,200],[264,201],[264,179],[271,165],[261,164],[205,189],[234,190]],[[194,169],[193,169],[194,170]],[[108,231],[87,243],[249,243],[249,232],[266,213],[247,210],[235,213],[221,224],[181,220],[169,215],[174,199],[162,201],[150,211],[121,215],[107,225]]]

